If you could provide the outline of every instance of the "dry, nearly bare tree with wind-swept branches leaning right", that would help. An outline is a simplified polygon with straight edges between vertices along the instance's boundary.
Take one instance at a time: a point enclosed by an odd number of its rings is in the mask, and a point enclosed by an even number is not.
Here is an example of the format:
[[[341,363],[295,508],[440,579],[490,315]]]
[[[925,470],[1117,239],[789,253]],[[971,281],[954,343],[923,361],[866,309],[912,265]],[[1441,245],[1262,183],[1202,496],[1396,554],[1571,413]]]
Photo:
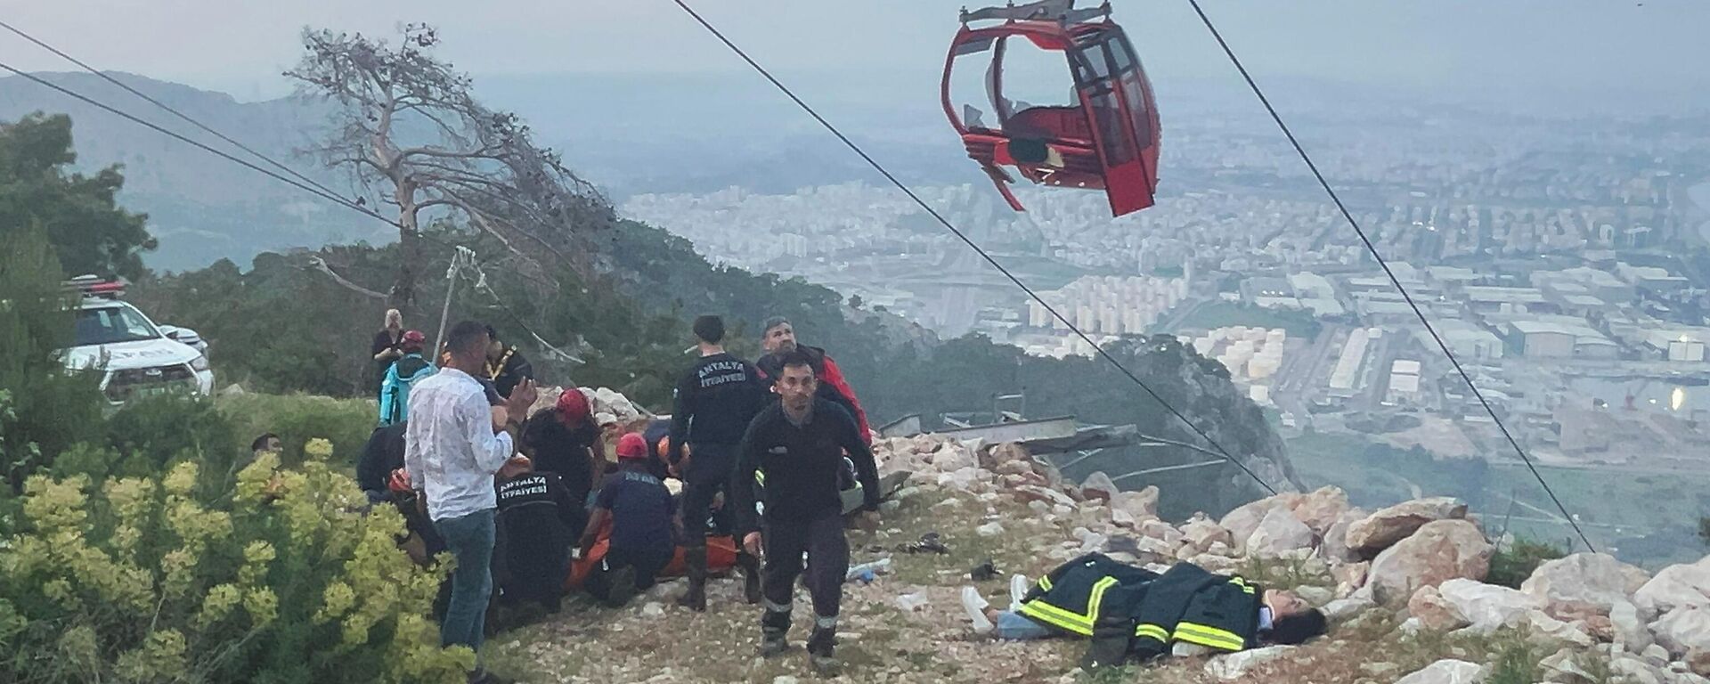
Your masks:
[[[426,24],[405,26],[397,46],[304,29],[303,62],[286,72],[298,96],[335,104],[327,140],[308,152],[398,212],[392,304],[414,301],[422,222],[441,215],[494,238],[537,282],[556,284],[561,268],[590,280],[592,234],[614,221],[610,203],[516,115],[482,106],[469,75],[431,55],[438,43]]]

